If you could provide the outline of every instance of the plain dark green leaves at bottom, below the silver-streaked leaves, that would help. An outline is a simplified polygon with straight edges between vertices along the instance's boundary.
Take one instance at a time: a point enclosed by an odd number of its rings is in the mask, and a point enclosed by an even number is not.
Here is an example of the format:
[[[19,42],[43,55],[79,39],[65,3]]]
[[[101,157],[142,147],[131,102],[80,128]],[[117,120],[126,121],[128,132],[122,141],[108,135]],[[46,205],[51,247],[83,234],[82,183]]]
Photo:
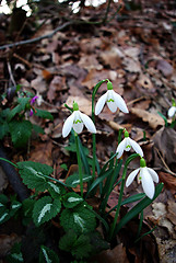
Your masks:
[[[90,237],[78,236],[73,230],[69,230],[59,241],[59,248],[70,252],[77,259],[89,258],[92,251]]]

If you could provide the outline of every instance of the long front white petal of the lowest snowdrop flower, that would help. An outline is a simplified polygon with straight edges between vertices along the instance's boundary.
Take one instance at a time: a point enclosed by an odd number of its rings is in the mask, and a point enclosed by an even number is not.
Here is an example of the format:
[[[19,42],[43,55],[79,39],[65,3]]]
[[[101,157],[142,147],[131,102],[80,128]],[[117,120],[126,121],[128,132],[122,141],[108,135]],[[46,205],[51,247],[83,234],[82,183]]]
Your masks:
[[[153,198],[154,196],[154,183],[153,183],[153,179],[150,175],[150,173],[148,172],[148,168],[141,168],[141,182],[142,182],[142,188],[144,191],[144,193],[146,194],[146,196],[149,198]]]

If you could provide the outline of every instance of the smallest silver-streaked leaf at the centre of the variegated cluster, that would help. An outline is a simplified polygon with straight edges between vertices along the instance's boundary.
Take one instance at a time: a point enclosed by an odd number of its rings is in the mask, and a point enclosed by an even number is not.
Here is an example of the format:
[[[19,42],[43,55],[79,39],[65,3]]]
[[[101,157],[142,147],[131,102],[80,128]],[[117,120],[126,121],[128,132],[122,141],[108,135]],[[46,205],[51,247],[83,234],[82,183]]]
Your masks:
[[[68,193],[63,197],[63,206],[67,208],[72,208],[80,203],[82,203],[84,199],[77,193]]]

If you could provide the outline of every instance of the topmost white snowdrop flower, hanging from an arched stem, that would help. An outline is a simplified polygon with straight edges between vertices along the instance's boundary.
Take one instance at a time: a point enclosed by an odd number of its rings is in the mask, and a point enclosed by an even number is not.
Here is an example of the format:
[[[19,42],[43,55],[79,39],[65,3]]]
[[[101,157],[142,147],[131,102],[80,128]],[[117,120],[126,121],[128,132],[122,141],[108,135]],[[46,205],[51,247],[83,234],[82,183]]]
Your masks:
[[[115,113],[117,107],[120,108],[124,113],[129,113],[125,100],[113,90],[113,84],[108,80],[107,82],[107,92],[99,98],[95,106],[95,115],[98,115],[105,103],[107,103],[108,108]]]

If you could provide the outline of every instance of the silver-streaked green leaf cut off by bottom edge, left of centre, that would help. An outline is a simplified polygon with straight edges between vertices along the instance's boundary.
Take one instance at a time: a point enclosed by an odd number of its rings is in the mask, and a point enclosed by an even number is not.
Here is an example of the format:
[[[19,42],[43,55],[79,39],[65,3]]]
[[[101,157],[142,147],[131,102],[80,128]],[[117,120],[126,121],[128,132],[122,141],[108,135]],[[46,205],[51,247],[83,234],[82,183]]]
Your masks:
[[[59,263],[59,258],[52,250],[45,245],[40,247],[39,263]]]

